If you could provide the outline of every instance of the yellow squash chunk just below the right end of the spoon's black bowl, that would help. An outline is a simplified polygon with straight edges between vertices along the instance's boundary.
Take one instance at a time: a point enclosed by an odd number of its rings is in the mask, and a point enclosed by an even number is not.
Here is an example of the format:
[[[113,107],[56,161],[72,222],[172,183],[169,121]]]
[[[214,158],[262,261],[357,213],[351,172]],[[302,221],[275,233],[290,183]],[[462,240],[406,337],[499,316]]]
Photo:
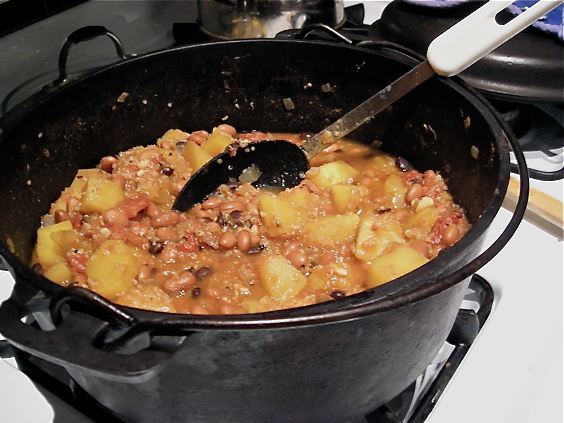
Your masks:
[[[295,232],[301,226],[301,214],[292,205],[274,194],[261,194],[258,210],[270,236]]]

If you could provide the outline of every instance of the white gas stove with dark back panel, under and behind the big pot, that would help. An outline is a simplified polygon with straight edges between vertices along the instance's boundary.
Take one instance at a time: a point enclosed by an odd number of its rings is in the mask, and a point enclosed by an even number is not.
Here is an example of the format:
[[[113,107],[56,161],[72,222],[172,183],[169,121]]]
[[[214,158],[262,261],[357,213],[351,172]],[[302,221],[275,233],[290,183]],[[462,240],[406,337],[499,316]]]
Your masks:
[[[350,33],[366,32],[389,3],[345,2]],[[195,1],[117,2],[110,8],[86,1],[4,34],[2,62],[10,65],[0,67],[0,116],[56,79],[58,49],[75,29],[104,25],[120,37],[128,54],[142,54],[186,42],[182,27],[193,26],[196,16]],[[106,43],[96,39],[73,49],[69,71],[79,74],[115,61]],[[562,168],[562,127],[544,125],[544,120],[523,126],[519,115],[530,105],[492,102],[521,132],[532,174],[540,175],[531,186],[562,202],[562,176],[554,176]],[[508,201],[491,225],[486,246],[510,217]],[[509,244],[473,278],[435,360],[398,398],[365,416],[365,423],[562,421],[563,233],[545,223],[522,222]],[[0,271],[0,301],[12,286],[9,273]],[[0,415],[6,421],[119,422],[60,368],[1,345]]]

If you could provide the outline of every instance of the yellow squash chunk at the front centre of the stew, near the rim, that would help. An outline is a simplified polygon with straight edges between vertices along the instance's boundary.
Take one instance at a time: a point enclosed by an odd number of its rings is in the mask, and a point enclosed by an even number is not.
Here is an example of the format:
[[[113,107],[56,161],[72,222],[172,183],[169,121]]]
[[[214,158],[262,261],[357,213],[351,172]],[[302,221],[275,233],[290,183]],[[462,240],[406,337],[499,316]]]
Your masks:
[[[278,254],[260,257],[257,268],[260,283],[277,301],[294,298],[307,284],[307,278]]]

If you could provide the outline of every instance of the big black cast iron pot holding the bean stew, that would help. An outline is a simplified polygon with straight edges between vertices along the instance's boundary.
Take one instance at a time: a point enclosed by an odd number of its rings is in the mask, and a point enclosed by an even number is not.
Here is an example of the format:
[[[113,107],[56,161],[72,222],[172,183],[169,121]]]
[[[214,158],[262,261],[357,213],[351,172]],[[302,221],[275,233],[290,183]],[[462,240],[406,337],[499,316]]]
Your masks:
[[[230,41],[127,59],[24,104],[0,140],[0,253],[16,279],[0,332],[131,422],[340,422],[395,397],[436,355],[469,277],[511,237],[526,205],[522,195],[479,255],[508,183],[508,141],[526,169],[503,122],[457,79],[426,82],[351,136],[440,171],[473,224],[437,259],[384,286],[271,313],[174,315],[62,288],[28,264],[41,215],[77,169],[102,156],[169,128],[316,132],[413,64],[326,42]]]

